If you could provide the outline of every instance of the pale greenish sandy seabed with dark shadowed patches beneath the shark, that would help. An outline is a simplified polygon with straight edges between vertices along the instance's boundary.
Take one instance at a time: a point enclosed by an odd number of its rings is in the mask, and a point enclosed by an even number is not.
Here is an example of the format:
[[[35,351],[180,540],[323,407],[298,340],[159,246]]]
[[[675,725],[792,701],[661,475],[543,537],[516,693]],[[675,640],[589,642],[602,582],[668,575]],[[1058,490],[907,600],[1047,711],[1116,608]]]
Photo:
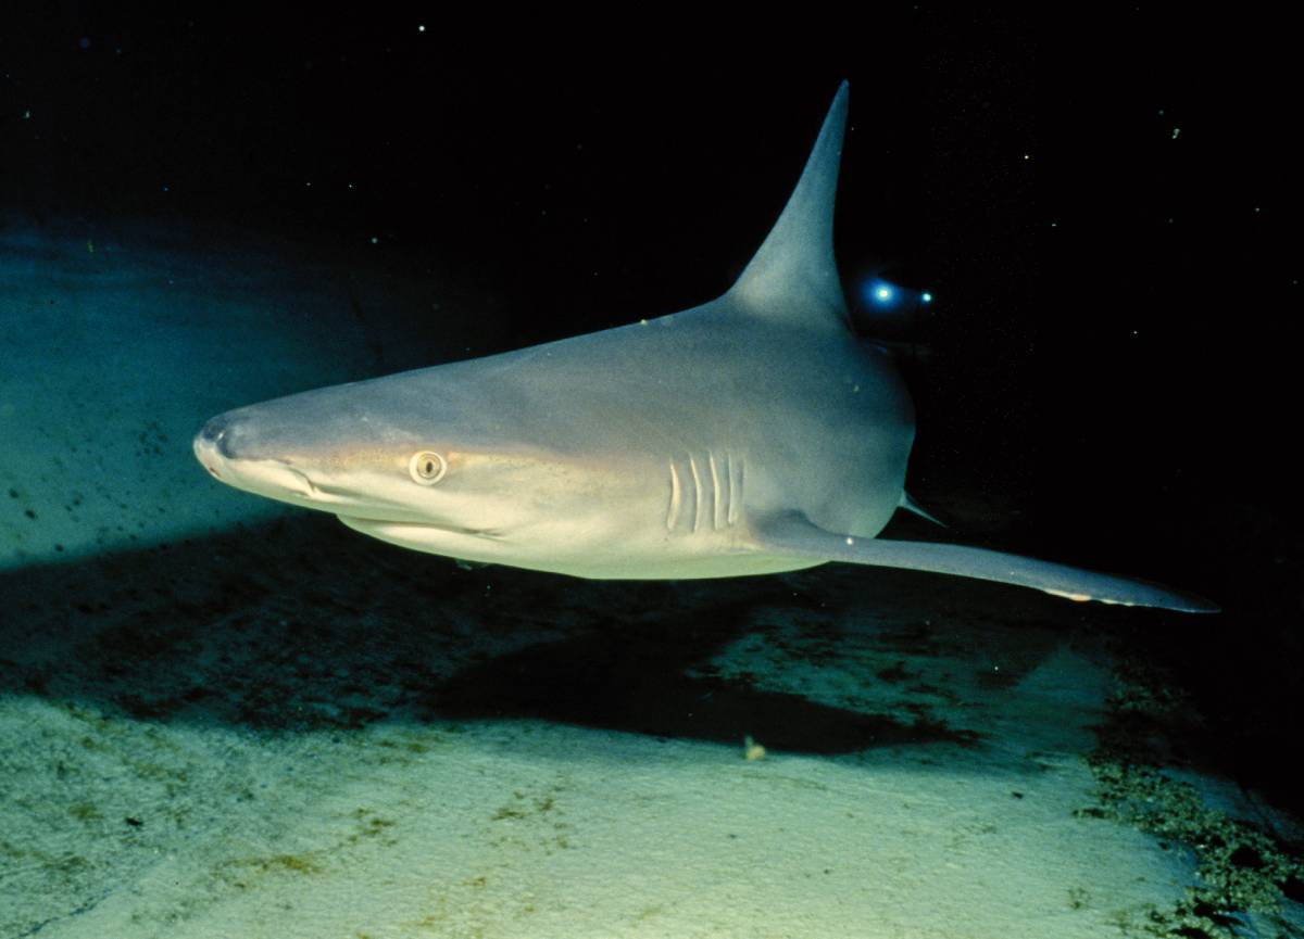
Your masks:
[[[1119,625],[1172,617],[373,543],[189,435],[365,372],[359,296],[417,288],[7,237],[0,938],[1304,935],[1287,820],[1136,763],[1178,693]]]

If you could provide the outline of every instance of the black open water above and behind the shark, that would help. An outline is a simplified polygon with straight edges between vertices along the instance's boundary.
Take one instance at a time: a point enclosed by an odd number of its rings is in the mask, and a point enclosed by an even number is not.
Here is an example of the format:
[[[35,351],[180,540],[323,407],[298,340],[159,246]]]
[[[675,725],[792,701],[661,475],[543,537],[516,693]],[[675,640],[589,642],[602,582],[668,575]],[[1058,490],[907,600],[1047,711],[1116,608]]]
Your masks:
[[[1301,161],[1282,22],[291,7],[7,8],[7,224],[379,253],[493,292],[512,348],[722,292],[846,78],[848,294],[882,272],[936,296],[857,310],[928,353],[904,363],[911,488],[1009,507],[1004,547],[1221,602],[1138,641],[1248,740],[1235,766],[1297,735]]]

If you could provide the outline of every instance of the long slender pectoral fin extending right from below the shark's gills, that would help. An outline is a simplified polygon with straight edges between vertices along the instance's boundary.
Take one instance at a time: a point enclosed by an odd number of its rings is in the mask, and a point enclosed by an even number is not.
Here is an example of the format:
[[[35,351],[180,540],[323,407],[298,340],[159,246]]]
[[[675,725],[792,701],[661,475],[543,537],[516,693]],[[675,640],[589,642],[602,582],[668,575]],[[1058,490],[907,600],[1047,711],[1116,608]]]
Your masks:
[[[1217,606],[1201,596],[1157,583],[962,544],[854,538],[827,531],[797,512],[754,524],[754,537],[758,550],[780,555],[975,577],[1034,587],[1071,600],[1161,607],[1184,613],[1218,612]]]

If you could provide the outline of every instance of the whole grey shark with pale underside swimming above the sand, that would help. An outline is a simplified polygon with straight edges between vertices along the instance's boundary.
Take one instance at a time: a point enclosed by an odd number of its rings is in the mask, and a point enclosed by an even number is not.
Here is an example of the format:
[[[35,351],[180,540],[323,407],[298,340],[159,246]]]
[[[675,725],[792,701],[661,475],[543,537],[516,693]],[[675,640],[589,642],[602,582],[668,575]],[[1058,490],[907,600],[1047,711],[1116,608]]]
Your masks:
[[[196,456],[237,488],[471,561],[591,578],[850,561],[1214,611],[1129,578],[875,538],[913,507],[914,409],[852,333],[833,260],[846,99],[844,82],[773,231],[717,300],[240,408],[200,431]]]

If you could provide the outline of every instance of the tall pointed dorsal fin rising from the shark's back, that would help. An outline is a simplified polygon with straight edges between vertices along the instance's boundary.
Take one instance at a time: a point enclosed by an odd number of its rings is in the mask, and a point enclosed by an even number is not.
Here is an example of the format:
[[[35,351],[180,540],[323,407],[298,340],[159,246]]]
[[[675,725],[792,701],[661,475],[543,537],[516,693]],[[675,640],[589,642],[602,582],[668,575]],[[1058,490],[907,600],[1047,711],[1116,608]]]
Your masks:
[[[764,315],[848,320],[842,283],[833,260],[833,197],[846,128],[846,94],[848,85],[842,82],[797,189],[760,250],[729,290],[730,296]]]

